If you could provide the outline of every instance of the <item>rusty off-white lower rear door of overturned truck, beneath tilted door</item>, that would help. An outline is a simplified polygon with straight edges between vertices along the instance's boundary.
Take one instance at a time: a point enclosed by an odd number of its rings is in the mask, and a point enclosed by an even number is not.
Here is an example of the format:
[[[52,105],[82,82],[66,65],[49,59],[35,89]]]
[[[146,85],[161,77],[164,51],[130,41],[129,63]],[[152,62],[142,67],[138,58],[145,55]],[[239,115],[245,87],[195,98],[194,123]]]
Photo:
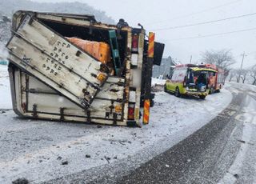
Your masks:
[[[113,99],[95,98],[90,108],[83,110],[68,98],[58,94],[57,91],[52,90],[49,86],[39,82],[25,72],[17,70],[14,74],[16,76],[15,86],[19,89],[18,94],[16,94],[18,99],[17,106],[22,116],[42,118],[39,114],[44,114],[42,115],[43,117],[48,114],[51,116],[50,119],[74,122],[76,119],[80,119],[83,122],[92,122],[91,119],[94,118],[94,120],[98,119],[98,121],[94,121],[97,123],[124,125],[123,102],[117,101],[114,95],[111,95]],[[120,87],[123,82],[123,78],[110,77],[105,85],[109,85],[110,90],[118,90],[117,87]],[[104,87],[102,90],[104,90]],[[122,90],[124,90],[123,86]],[[107,121],[107,123],[104,123],[104,121]]]

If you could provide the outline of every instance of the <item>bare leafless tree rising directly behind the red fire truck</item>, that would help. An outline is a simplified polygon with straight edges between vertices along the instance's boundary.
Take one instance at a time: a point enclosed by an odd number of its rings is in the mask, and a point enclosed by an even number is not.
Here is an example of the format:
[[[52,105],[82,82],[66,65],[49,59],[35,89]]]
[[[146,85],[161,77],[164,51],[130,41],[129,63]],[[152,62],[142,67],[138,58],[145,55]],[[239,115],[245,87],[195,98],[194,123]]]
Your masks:
[[[214,64],[225,72],[225,79],[230,72],[230,66],[232,66],[236,61],[234,60],[231,50],[206,50],[202,53],[202,62]]]

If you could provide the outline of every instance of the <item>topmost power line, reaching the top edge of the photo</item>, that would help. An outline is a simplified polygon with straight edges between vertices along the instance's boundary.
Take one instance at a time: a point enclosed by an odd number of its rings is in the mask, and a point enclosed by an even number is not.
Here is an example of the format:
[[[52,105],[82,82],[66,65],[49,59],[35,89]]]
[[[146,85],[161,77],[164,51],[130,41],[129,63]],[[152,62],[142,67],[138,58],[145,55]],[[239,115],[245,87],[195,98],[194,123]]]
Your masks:
[[[178,16],[178,17],[175,17],[175,18],[170,18],[170,19],[166,19],[166,20],[162,20],[162,21],[158,21],[158,22],[150,22],[147,25],[150,26],[150,25],[161,23],[161,22],[173,21],[173,20],[177,20],[177,19],[180,19],[180,18],[187,18],[187,17],[190,17],[191,15],[194,15],[194,14],[201,14],[201,13],[204,13],[204,12],[207,12],[207,11],[210,11],[210,10],[216,10],[216,9],[221,8],[223,6],[229,6],[231,4],[234,4],[236,2],[241,2],[241,1],[242,0],[236,0],[236,1],[232,1],[232,2],[227,2],[225,4],[222,4],[222,5],[219,5],[219,6],[213,6],[213,7],[210,7],[210,8],[206,8],[204,10],[196,11],[196,12],[193,12],[191,14],[184,14],[184,15],[181,15],[181,16]]]

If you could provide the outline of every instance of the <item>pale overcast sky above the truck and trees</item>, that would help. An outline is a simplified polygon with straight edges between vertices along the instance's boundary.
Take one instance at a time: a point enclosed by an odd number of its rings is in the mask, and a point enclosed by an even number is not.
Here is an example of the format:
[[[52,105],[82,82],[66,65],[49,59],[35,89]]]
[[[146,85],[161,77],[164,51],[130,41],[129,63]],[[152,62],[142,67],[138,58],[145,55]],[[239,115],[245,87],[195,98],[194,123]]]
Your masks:
[[[34,0],[37,2],[74,2],[72,0]],[[147,31],[154,30],[157,41],[166,44],[165,56],[178,58],[183,63],[198,62],[205,50],[231,49],[240,66],[243,51],[247,56],[244,66],[256,64],[256,14],[223,22],[166,29],[168,27],[214,21],[243,14],[256,13],[255,0],[79,0],[86,2],[118,22],[124,18],[130,26],[140,22]],[[164,28],[165,30],[158,30]],[[182,39],[220,34],[238,30],[255,30],[206,38]],[[176,39],[176,40],[175,40]]]

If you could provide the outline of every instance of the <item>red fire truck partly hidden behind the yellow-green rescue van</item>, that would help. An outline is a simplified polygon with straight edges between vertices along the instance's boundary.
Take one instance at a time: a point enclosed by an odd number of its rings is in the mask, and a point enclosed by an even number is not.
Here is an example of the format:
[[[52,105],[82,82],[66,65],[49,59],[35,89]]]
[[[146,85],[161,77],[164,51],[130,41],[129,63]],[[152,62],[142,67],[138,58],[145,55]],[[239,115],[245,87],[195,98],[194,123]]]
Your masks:
[[[214,92],[220,92],[224,85],[224,73],[225,70],[219,68],[218,66],[215,66],[214,64],[202,64],[199,65],[199,67],[204,68],[210,68],[215,70],[216,72],[209,72],[209,94],[212,94]]]

